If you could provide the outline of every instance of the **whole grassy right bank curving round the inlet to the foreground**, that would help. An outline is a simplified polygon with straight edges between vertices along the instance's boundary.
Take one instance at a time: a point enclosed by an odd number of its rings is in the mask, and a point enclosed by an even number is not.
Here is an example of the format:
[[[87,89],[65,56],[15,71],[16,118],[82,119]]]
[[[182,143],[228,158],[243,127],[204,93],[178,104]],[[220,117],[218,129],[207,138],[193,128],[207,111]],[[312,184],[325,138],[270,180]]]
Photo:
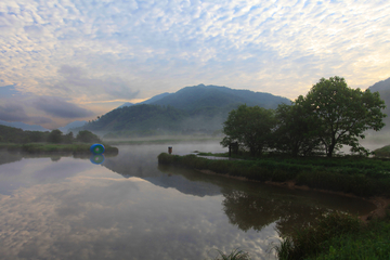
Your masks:
[[[283,237],[275,246],[276,255],[278,259],[390,259],[389,160],[353,157],[210,160],[196,155],[160,154],[158,161],[207,174],[368,200],[376,206],[372,212],[359,217],[324,216]]]

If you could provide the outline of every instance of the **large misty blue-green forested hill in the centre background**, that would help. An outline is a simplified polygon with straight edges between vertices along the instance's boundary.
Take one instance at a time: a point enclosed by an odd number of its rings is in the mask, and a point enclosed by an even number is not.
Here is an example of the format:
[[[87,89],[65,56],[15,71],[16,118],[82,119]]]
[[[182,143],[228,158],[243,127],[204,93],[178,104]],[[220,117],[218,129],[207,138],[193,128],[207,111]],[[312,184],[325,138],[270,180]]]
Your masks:
[[[110,138],[166,133],[207,133],[222,129],[229,113],[240,104],[276,108],[286,98],[226,87],[186,87],[176,93],[162,93],[142,103],[116,108],[83,129],[113,132]],[[114,133],[115,132],[115,133]]]

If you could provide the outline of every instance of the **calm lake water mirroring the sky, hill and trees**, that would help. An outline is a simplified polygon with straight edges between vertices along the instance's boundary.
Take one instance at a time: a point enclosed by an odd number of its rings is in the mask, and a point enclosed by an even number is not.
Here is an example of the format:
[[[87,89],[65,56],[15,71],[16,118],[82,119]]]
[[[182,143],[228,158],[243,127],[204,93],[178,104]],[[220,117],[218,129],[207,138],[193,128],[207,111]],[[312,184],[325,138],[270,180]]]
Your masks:
[[[158,166],[168,145],[119,146],[102,165],[89,158],[29,158],[0,152],[2,259],[211,259],[237,247],[252,259],[295,225],[329,210],[374,205],[328,194]],[[173,153],[224,152],[176,144]]]

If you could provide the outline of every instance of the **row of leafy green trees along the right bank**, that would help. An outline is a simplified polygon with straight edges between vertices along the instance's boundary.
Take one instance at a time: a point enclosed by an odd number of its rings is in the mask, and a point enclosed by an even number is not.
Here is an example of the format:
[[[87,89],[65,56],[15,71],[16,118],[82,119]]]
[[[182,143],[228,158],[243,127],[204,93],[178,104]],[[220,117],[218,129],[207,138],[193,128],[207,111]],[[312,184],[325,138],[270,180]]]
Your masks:
[[[359,139],[364,131],[379,131],[386,115],[378,92],[347,86],[343,78],[322,78],[306,96],[273,109],[246,105],[233,109],[223,123],[221,144],[238,143],[252,156],[271,150],[292,156],[325,154],[332,157],[342,145],[367,155]]]

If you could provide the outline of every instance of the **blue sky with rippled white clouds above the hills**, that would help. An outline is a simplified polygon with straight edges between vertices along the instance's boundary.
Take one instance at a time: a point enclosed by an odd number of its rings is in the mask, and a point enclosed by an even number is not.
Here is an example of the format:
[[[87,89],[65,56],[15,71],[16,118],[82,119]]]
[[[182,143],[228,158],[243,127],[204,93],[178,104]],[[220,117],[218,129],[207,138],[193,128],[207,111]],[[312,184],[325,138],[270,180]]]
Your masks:
[[[199,83],[366,89],[389,50],[388,0],[1,0],[0,120],[53,129]]]

